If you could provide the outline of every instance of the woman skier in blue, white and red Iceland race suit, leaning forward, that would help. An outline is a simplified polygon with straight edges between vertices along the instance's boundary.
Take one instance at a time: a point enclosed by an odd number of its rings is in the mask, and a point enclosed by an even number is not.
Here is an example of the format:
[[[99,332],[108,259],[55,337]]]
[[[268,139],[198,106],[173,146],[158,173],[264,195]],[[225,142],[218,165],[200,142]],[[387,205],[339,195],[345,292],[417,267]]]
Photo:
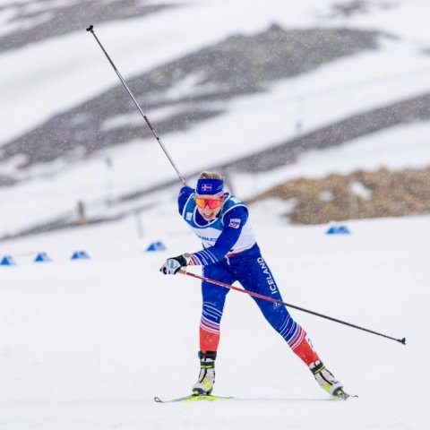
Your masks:
[[[249,225],[248,209],[244,202],[224,192],[223,176],[202,172],[195,190],[186,185],[181,189],[178,207],[185,222],[202,240],[203,249],[168,258],[160,271],[174,275],[182,267],[201,265],[205,278],[227,284],[237,280],[248,291],[282,300]],[[209,395],[213,390],[219,323],[228,291],[228,288],[202,281],[201,370],[192,388],[194,395]],[[309,367],[323,390],[334,397],[346,399],[348,394],[343,391],[343,384],[323,365],[306,332],[293,320],[286,306],[253,298],[266,320]]]

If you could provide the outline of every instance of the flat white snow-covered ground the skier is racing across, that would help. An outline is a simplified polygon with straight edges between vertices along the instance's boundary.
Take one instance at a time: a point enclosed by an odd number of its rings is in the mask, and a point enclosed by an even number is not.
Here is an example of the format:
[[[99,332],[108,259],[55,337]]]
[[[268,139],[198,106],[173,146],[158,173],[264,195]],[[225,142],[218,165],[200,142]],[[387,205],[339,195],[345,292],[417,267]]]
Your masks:
[[[284,300],[408,345],[291,311],[358,399],[330,400],[250,297],[231,291],[215,393],[235,400],[159,405],[198,374],[199,281],[165,277],[170,255],[199,248],[171,211],[0,245],[0,428],[426,429],[430,218],[288,227],[252,217]],[[157,216],[156,216],[157,215]],[[167,225],[169,227],[167,228]],[[176,229],[176,234],[168,234]],[[151,240],[164,252],[144,252]],[[90,260],[71,261],[75,250]],[[32,262],[45,251],[52,262]]]

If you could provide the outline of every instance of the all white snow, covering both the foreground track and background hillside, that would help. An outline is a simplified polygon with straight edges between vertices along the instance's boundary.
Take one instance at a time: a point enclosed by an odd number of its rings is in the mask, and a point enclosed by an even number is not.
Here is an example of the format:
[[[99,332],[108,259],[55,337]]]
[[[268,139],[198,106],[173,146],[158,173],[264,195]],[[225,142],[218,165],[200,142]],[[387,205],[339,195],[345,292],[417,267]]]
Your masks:
[[[13,3],[18,2],[0,1]],[[207,161],[218,162],[294,135],[299,114],[304,129],[311,130],[430,88],[430,59],[422,54],[430,46],[426,0],[372,2],[371,14],[334,21],[327,17],[329,4],[189,1],[174,13],[127,25],[94,24],[126,78],[230,32],[254,33],[273,21],[303,28],[344,24],[400,36],[397,42],[384,40],[377,55],[364,53],[279,82],[265,94],[233,100],[225,116],[188,133],[169,134],[163,141],[186,173],[205,167],[205,160],[189,157],[195,148],[219,145],[219,154]],[[246,20],[244,10],[249,12]],[[82,30],[0,56],[0,142],[116,85],[115,73],[88,37]],[[245,197],[286,178],[332,171],[428,166],[428,127],[397,127],[341,148],[310,152],[265,175],[235,175],[235,192]],[[231,149],[228,156],[222,148]],[[113,172],[107,170],[106,156],[114,161]],[[13,171],[13,163],[7,169]],[[71,168],[54,163],[50,171],[52,176],[43,176],[42,168],[35,169],[32,174],[39,177],[0,191],[0,235],[70,210],[79,198],[105,198],[111,174],[115,193],[174,177],[159,147],[142,142]],[[200,245],[176,214],[171,191],[150,196],[149,202],[159,204],[140,219],[0,243],[0,258],[10,254],[17,262],[0,266],[0,428],[428,427],[430,217],[348,221],[351,235],[327,236],[328,225],[286,225],[284,203],[254,204],[251,220],[286,302],[396,339],[406,337],[408,345],[291,311],[346,390],[359,395],[347,402],[331,400],[263,321],[253,300],[231,292],[215,393],[236,399],[159,405],[153,396],[182,396],[195,382],[201,307],[197,280],[164,277],[159,266],[168,256]],[[144,251],[158,240],[167,251]],[[90,259],[71,261],[79,250]],[[33,262],[40,252],[52,261]]]

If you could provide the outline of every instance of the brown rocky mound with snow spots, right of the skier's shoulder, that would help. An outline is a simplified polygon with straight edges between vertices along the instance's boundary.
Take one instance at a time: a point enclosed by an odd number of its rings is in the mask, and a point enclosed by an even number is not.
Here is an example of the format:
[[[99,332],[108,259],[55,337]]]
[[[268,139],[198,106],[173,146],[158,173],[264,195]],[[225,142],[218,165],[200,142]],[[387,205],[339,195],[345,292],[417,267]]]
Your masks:
[[[358,170],[347,176],[299,178],[249,202],[270,198],[290,202],[291,210],[285,216],[296,224],[430,213],[430,168],[381,168],[374,172]]]

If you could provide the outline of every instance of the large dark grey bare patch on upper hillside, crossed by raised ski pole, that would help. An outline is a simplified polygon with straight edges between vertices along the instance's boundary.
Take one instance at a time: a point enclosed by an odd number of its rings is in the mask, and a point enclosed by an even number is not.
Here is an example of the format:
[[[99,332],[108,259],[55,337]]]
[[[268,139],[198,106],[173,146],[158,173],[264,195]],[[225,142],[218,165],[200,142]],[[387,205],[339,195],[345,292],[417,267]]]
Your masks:
[[[252,36],[236,35],[218,45],[165,64],[128,82],[136,99],[165,135],[219,115],[227,101],[265,90],[343,56],[376,49],[381,34],[347,29],[282,30],[273,25]],[[137,121],[133,118],[137,118]],[[57,115],[5,144],[0,162],[22,155],[21,168],[58,158],[86,157],[150,135],[120,83],[99,97]],[[79,155],[76,155],[79,154]]]

